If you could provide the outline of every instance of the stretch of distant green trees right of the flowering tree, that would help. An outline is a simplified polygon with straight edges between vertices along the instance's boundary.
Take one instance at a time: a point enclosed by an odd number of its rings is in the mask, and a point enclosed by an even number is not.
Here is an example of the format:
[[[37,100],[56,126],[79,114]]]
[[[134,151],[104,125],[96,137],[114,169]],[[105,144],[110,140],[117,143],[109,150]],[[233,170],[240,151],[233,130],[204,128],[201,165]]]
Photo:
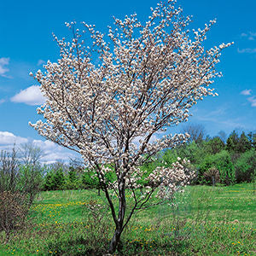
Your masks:
[[[195,183],[252,182],[256,169],[256,133],[232,131],[227,137],[224,131],[218,136],[205,135],[202,125],[187,125],[183,132],[191,137],[188,143],[160,153],[153,166],[172,164],[177,156],[187,158],[194,166]],[[154,167],[152,167],[154,168]]]

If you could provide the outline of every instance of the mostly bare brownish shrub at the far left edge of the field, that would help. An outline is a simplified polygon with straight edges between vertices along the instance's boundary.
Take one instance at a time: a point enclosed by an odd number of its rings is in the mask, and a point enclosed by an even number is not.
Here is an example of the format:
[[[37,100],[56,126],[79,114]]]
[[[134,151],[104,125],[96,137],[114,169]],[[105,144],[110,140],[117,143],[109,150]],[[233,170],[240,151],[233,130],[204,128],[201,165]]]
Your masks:
[[[22,226],[40,185],[39,166],[19,166],[15,148],[0,156],[0,231]]]

